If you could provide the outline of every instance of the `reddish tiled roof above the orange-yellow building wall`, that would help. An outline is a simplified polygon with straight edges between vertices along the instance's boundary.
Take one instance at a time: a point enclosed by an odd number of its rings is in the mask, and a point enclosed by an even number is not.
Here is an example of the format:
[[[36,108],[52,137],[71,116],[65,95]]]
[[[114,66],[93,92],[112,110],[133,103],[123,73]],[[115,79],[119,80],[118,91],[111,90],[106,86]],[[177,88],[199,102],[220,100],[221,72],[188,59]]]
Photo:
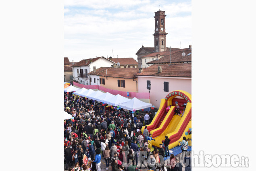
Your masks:
[[[139,72],[139,68],[110,68],[100,74],[98,76],[110,76],[110,77],[117,77],[117,78],[133,78],[134,74]]]

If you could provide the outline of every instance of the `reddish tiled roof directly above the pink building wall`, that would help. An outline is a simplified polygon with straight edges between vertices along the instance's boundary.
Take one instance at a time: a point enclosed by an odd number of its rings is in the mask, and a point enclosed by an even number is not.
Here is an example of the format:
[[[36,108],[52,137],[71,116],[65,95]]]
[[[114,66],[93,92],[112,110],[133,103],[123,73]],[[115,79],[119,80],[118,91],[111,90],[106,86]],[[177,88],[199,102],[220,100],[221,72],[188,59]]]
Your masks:
[[[162,72],[158,73],[158,66],[162,67]],[[168,76],[168,77],[189,77],[191,78],[191,63],[181,64],[154,64],[148,68],[143,68],[141,73],[135,76]]]

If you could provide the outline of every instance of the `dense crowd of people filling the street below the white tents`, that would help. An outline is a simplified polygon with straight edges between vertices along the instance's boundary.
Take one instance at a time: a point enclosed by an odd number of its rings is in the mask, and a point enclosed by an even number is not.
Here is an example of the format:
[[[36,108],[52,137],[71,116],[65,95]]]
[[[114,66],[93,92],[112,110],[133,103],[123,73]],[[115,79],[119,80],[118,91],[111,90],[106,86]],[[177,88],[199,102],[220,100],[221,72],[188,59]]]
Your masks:
[[[111,165],[112,171],[135,171],[136,167],[164,171],[163,165],[158,166],[164,162],[160,161],[159,156],[161,155],[162,159],[167,156],[170,156],[171,160],[175,158],[169,152],[170,140],[167,136],[163,144],[160,144],[160,148],[154,148],[151,152],[151,141],[154,139],[145,126],[152,122],[151,112],[139,115],[136,112],[107,108],[102,103],[73,93],[65,93],[64,109],[73,117],[64,122],[65,170],[101,171],[103,158],[106,170]],[[145,129],[141,132],[143,126]],[[186,151],[188,144],[187,140],[184,141],[182,145]],[[124,155],[125,152],[128,155]],[[140,152],[144,152],[142,156],[146,159],[147,165],[139,161]],[[83,162],[84,155],[88,160],[86,165]],[[124,167],[123,163],[130,165]]]

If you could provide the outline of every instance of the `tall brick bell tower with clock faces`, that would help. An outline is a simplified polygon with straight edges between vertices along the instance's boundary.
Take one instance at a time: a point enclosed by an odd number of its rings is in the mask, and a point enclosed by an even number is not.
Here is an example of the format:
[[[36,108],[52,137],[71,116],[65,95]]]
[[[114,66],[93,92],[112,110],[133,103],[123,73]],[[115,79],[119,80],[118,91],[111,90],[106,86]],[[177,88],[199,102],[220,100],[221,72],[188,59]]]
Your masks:
[[[166,51],[166,35],[165,33],[165,11],[155,12],[155,33],[154,33],[154,45],[155,52]]]

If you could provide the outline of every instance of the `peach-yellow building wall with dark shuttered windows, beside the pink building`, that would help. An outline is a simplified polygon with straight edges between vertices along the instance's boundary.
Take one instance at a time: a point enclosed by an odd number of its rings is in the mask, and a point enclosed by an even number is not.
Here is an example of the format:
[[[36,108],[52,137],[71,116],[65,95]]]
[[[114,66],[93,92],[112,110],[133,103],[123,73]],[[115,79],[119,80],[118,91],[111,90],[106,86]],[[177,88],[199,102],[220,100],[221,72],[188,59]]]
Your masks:
[[[119,91],[127,91],[127,92],[136,92],[136,81],[137,78],[133,79],[129,78],[113,78],[113,77],[105,77],[100,76],[100,78],[105,78],[105,85],[100,84],[102,87],[106,87],[108,89],[119,90]],[[125,87],[118,87],[117,80],[125,80]]]

